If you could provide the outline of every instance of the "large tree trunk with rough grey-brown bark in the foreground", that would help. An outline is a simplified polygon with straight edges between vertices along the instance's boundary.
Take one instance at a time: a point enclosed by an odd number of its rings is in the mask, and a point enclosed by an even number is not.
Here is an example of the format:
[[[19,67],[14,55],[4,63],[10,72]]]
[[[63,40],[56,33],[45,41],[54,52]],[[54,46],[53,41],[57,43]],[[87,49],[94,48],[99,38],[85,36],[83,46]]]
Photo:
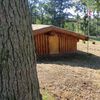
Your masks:
[[[0,100],[40,100],[27,0],[0,0]]]

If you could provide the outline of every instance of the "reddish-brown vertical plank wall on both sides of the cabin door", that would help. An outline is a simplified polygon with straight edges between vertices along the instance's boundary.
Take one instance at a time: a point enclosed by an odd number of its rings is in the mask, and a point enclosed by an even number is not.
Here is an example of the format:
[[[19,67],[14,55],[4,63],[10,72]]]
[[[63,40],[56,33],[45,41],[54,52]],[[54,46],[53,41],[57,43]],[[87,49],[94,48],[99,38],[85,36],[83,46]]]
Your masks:
[[[59,53],[74,53],[77,50],[77,38],[66,34],[57,33],[59,39]],[[37,55],[49,54],[49,35],[37,34],[35,38],[35,47]]]

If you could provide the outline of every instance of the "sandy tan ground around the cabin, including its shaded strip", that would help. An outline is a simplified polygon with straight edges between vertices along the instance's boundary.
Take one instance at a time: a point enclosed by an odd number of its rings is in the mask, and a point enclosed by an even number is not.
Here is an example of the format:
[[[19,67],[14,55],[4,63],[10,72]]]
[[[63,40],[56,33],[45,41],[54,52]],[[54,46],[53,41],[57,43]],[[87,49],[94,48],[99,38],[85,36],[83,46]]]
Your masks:
[[[54,100],[100,100],[100,42],[89,42],[87,54],[87,43],[80,41],[78,50],[74,55],[38,61],[40,88]]]

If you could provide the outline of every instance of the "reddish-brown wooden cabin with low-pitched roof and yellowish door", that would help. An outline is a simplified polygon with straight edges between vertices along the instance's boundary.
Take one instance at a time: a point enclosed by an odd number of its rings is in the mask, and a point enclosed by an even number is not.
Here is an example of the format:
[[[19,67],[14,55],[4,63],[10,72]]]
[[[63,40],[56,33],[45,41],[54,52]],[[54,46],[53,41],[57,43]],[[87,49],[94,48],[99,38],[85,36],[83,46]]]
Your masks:
[[[32,25],[37,56],[75,53],[77,42],[87,36],[52,25]]]

